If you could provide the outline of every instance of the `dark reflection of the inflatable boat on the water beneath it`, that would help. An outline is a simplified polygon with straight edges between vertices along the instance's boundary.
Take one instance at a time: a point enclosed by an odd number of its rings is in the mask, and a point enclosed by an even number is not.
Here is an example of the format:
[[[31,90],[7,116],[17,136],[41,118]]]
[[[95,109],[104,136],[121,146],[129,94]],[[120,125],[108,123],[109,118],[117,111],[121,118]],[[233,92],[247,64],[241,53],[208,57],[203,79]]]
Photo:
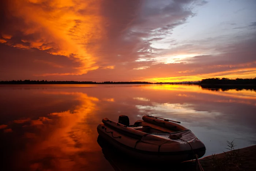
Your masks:
[[[146,160],[136,160],[131,156],[124,155],[112,145],[107,143],[101,136],[98,136],[97,142],[102,148],[102,153],[106,160],[111,164],[115,171],[159,171],[159,170],[183,170],[192,171],[195,165],[192,162],[183,162],[180,164],[170,164],[168,162],[147,162]]]

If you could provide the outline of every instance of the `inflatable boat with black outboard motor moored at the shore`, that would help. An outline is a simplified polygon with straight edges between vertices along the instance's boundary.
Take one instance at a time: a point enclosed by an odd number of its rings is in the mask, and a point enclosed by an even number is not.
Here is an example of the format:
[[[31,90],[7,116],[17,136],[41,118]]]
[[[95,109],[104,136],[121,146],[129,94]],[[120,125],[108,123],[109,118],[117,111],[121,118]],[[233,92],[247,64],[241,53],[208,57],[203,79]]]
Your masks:
[[[179,123],[145,115],[130,125],[128,116],[121,115],[118,123],[103,118],[97,131],[118,151],[136,159],[183,162],[202,157],[206,151],[202,141]]]

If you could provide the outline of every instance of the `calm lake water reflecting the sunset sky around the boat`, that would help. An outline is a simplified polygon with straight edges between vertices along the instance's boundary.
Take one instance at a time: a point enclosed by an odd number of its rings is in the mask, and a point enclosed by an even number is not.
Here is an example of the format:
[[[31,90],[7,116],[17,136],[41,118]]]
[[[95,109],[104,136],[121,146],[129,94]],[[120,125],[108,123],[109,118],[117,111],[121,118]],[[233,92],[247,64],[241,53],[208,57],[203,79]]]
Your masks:
[[[221,153],[227,140],[237,148],[256,144],[256,92],[251,90],[0,85],[0,109],[4,170],[117,170],[111,151],[108,156],[103,149],[104,156],[97,143],[96,127],[103,117],[117,121],[120,114],[131,124],[144,114],[181,121],[206,145],[206,155]]]

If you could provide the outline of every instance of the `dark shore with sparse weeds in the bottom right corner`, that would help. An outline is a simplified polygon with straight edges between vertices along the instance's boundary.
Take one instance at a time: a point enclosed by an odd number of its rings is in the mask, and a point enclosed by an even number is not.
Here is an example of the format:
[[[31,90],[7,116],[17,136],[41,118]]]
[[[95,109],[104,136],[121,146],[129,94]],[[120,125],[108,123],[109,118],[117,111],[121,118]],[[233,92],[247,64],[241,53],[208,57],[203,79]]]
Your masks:
[[[233,150],[233,152],[239,153],[238,158],[240,160],[240,163],[238,166],[239,168],[237,167],[237,170],[255,171],[255,169],[256,169],[256,145],[252,145],[252,146],[241,148],[241,149],[235,149],[235,150]],[[219,162],[225,162],[224,161],[224,160],[226,160],[225,157],[227,154],[230,153],[230,151],[225,152],[225,153],[223,152],[223,153],[215,154],[215,157],[216,157],[215,159],[217,159]],[[213,156],[210,155],[210,156],[205,156],[205,157],[199,159],[199,162],[202,165],[204,171],[216,170],[216,168],[215,168],[216,166],[214,166],[212,158],[213,158]],[[195,160],[184,162],[184,163],[182,163],[182,165],[184,166],[185,171],[191,170],[192,168],[194,168],[193,170],[196,170],[195,166],[193,167],[193,165],[195,165]],[[226,165],[226,166],[222,166],[222,167],[228,167],[228,166]],[[230,170],[229,168],[223,168],[223,169]]]

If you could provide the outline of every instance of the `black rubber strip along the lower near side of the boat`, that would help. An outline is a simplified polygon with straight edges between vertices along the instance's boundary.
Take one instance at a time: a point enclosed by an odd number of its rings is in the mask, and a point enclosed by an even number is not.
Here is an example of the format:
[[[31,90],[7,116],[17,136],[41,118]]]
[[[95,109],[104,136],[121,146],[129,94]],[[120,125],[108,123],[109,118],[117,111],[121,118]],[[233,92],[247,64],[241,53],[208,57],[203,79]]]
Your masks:
[[[99,130],[101,131],[101,130]],[[102,132],[102,131],[101,131]],[[105,134],[104,132],[102,132],[103,135]],[[102,136],[103,137],[103,136]],[[182,155],[182,154],[193,154],[193,151],[192,150],[186,150],[186,151],[177,151],[177,152],[153,152],[153,151],[144,151],[144,150],[141,150],[141,149],[135,149],[135,148],[132,148],[132,147],[129,147],[127,145],[124,145],[122,143],[120,143],[119,141],[109,137],[108,135],[105,136],[106,138],[108,138],[109,140],[112,140],[114,141],[114,143],[116,143],[117,145],[121,146],[121,147],[124,147],[126,149],[129,149],[131,151],[134,151],[134,152],[138,152],[138,153],[143,153],[143,154],[148,154],[148,155]],[[104,138],[104,137],[103,137]],[[202,148],[197,148],[197,149],[194,149],[194,153],[196,154],[197,152],[201,152],[201,151],[205,151],[206,148],[205,147],[202,147]]]

